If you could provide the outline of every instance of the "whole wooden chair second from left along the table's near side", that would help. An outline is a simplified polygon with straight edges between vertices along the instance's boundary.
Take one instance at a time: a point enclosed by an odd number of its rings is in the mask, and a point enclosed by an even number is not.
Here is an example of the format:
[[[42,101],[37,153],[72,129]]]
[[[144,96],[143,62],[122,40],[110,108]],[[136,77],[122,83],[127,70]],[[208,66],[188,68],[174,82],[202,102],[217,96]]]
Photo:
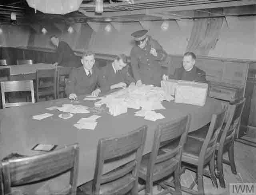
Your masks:
[[[87,195],[123,195],[138,193],[138,169],[144,149],[147,126],[122,137],[103,138],[98,142],[94,179],[80,187]],[[135,159],[103,175],[104,163],[111,163],[129,155]]]

